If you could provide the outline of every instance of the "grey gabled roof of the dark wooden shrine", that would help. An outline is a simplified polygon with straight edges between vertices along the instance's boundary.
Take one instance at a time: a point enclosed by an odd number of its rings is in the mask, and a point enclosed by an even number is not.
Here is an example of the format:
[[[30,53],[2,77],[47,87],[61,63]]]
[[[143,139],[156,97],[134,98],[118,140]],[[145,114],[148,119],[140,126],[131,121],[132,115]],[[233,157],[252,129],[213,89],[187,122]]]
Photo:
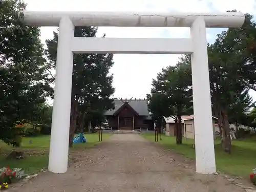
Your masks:
[[[127,104],[129,104],[134,111],[136,111],[140,116],[150,116],[150,112],[148,112],[148,108],[147,108],[147,100],[144,99],[132,99],[132,100],[114,100],[114,105],[115,105],[115,109],[114,110],[109,110],[105,112],[105,115],[107,116],[111,116],[113,115],[119,108],[121,108],[121,106],[124,104],[124,102],[127,102]]]

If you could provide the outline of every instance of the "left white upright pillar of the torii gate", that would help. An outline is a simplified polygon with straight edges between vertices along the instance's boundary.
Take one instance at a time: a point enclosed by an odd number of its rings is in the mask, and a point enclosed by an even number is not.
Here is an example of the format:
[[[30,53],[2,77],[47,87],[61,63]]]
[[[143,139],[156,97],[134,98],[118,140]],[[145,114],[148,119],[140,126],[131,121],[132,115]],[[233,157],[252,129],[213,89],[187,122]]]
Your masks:
[[[62,17],[59,23],[57,63],[52,115],[49,170],[65,173],[69,157],[69,125],[73,73],[74,25],[69,17]],[[59,133],[61,132],[61,134]]]

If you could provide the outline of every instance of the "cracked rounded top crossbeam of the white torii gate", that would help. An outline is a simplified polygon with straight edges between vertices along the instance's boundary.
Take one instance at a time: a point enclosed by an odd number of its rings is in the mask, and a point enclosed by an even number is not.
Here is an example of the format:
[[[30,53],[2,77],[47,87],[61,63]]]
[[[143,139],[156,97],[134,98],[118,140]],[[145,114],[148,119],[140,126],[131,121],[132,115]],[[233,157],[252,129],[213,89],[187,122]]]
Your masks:
[[[59,26],[60,19],[68,16],[74,26],[116,27],[191,27],[203,17],[208,28],[241,27],[245,15],[226,13],[133,13],[133,12],[71,12],[24,11],[25,23],[30,26]]]

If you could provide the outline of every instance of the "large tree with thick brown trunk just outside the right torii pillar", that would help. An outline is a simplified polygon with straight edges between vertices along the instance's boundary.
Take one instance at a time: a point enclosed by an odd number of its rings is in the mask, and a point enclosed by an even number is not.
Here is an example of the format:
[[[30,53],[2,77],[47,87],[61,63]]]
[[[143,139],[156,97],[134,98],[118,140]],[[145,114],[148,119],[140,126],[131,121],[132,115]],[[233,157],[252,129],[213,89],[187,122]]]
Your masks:
[[[252,43],[251,33],[255,30],[251,19],[252,17],[246,14],[242,28],[223,31],[217,35],[215,43],[208,47],[212,103],[219,118],[222,146],[227,153],[231,153],[229,107],[236,103],[239,95],[253,83],[255,74],[252,54],[248,52],[247,47]]]

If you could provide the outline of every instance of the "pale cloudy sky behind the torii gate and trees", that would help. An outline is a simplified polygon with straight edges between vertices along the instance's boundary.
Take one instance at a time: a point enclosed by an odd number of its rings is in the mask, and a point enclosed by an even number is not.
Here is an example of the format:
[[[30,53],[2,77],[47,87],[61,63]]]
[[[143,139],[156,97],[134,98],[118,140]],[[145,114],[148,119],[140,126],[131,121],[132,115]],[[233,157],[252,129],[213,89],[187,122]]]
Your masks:
[[[133,11],[133,12],[226,12],[236,9],[243,13],[255,14],[255,0],[25,0],[27,10],[33,11]],[[54,27],[41,28],[41,40],[53,37]],[[214,42],[216,35],[225,29],[207,29],[207,41]],[[118,28],[100,27],[97,35],[106,37],[189,37],[187,28]],[[152,78],[163,67],[175,65],[180,55],[116,54],[113,86],[115,97],[144,98],[150,93]],[[256,93],[251,91],[256,100]]]

